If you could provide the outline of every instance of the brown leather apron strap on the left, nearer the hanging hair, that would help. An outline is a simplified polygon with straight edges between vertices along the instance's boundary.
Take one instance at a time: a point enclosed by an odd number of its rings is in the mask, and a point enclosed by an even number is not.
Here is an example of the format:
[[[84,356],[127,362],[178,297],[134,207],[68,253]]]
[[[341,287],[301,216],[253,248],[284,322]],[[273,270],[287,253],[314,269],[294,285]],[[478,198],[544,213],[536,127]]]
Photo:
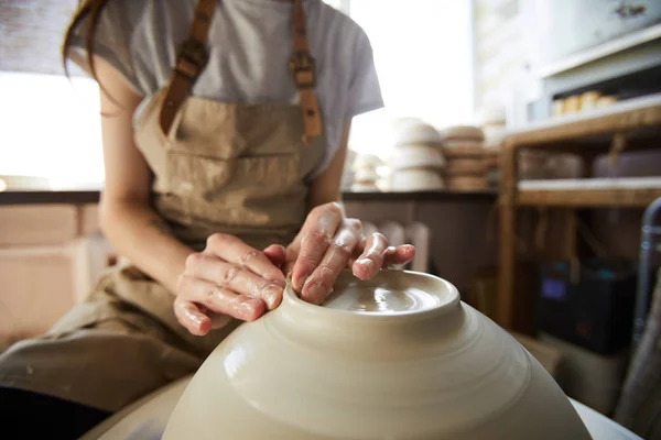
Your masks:
[[[159,122],[163,133],[169,134],[182,103],[191,94],[193,85],[208,62],[206,47],[216,0],[199,0],[193,24],[177,53],[176,65],[170,76],[165,100]]]

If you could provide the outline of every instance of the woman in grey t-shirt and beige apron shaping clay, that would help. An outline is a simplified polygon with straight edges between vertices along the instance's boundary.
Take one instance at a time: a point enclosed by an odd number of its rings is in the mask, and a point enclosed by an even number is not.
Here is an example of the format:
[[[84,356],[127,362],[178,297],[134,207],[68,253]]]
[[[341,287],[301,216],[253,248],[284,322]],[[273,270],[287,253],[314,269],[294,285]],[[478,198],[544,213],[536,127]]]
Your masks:
[[[101,228],[130,264],[0,356],[3,424],[48,408],[23,437],[191,374],[286,277],[321,304],[343,268],[413,257],[337,204],[349,122],[382,100],[367,36],[321,0],[88,1],[64,52],[104,91]]]

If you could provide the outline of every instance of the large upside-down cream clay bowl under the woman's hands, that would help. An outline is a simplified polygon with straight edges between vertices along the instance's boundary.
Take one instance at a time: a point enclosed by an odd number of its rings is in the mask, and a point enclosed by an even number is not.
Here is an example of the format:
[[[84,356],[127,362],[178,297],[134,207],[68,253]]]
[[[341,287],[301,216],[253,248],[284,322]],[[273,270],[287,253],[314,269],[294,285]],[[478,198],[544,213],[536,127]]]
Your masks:
[[[285,290],[182,394],[181,439],[589,439],[568,398],[449,283],[344,273],[324,307]]]

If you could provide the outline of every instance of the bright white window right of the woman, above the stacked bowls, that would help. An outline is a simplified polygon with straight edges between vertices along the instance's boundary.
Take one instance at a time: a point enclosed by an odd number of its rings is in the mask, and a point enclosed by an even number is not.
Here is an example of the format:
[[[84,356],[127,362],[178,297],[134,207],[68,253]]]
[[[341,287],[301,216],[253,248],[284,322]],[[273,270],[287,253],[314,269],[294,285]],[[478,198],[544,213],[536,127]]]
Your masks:
[[[473,117],[469,1],[350,0],[350,16],[370,37],[386,108],[354,120],[350,147],[380,156],[391,121],[420,118],[436,127]]]

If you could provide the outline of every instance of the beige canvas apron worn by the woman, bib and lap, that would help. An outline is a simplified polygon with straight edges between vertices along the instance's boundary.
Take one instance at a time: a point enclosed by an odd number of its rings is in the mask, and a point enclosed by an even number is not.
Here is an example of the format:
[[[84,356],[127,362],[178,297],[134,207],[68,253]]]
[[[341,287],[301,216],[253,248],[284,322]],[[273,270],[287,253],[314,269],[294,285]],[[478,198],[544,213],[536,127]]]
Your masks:
[[[198,6],[191,31],[197,48],[206,42],[215,3]],[[307,41],[300,1],[292,10],[294,55],[310,58],[301,52]],[[257,249],[286,245],[306,215],[305,176],[325,150],[313,82],[294,76],[301,106],[225,103],[187,96],[203,66],[191,75],[185,62],[184,54],[136,127],[137,145],[154,175],[154,209],[196,250],[214,232]],[[300,67],[292,72],[310,74]],[[194,337],[177,322],[173,300],[134,266],[112,267],[47,334],[0,356],[0,385],[116,411],[193,373],[240,323]]]

